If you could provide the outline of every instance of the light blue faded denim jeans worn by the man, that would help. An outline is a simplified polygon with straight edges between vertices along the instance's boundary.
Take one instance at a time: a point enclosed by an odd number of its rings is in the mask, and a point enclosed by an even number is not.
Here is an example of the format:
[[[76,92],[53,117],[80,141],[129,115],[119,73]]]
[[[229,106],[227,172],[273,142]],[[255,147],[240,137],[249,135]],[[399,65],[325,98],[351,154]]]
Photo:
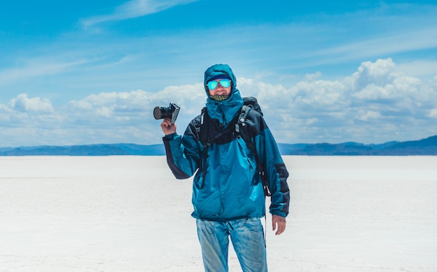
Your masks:
[[[207,272],[228,271],[229,236],[243,272],[267,272],[264,229],[260,218],[214,222],[196,220]]]

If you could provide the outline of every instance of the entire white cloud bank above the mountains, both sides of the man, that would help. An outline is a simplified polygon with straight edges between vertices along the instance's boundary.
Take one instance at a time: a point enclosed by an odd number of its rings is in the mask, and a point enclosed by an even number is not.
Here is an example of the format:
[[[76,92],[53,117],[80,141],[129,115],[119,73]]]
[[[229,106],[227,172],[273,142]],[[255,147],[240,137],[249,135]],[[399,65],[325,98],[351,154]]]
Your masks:
[[[342,80],[306,77],[292,86],[239,77],[242,96],[258,98],[277,142],[364,142],[421,139],[437,134],[437,84],[409,77],[392,59],[364,62]],[[3,145],[161,142],[156,106],[170,102],[182,109],[178,133],[200,114],[206,94],[202,83],[168,86],[156,93],[136,90],[91,94],[52,107],[47,98],[21,94],[0,104]],[[16,142],[20,130],[28,142]],[[41,135],[34,137],[35,134]],[[9,135],[9,136],[6,136]],[[46,135],[46,136],[45,136]],[[6,140],[8,139],[8,141]],[[24,140],[23,140],[24,141]],[[15,143],[15,144],[14,144]]]

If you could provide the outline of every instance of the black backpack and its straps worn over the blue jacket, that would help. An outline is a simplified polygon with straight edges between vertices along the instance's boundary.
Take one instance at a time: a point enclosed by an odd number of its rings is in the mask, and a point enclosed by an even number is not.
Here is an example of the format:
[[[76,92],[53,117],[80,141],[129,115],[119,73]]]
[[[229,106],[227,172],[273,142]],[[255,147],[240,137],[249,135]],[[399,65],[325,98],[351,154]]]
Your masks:
[[[262,116],[261,107],[258,104],[258,100],[256,100],[256,98],[254,98],[252,96],[243,98],[243,101],[244,101],[244,105],[240,109],[239,114],[237,114],[237,116],[234,119],[232,119],[232,121],[229,123],[228,127],[225,128],[224,130],[221,130],[220,133],[217,133],[216,135],[214,135],[214,137],[211,137],[209,139],[208,139],[208,131],[207,131],[207,128],[206,128],[205,123],[204,123],[205,114],[207,114],[207,107],[204,107],[202,109],[202,113],[201,113],[201,117],[200,117],[199,137],[200,137],[200,142],[202,143],[204,149],[203,149],[203,153],[202,153],[201,163],[202,163],[202,165],[206,165],[205,163],[206,163],[206,159],[207,159],[207,151],[208,151],[209,146],[211,146],[211,144],[216,142],[218,138],[225,135],[226,133],[236,133],[237,137],[239,136],[239,137],[242,137],[242,139],[244,139],[244,142],[246,142],[246,145],[252,151],[253,156],[255,156],[256,168],[257,168],[258,173],[260,174],[260,177],[261,177],[262,187],[264,188],[264,195],[269,197],[272,194],[269,191],[269,188],[267,186],[267,175],[265,174],[264,166],[262,165],[262,163],[260,161],[260,158],[258,156],[258,152],[255,149],[255,144],[251,141],[251,137],[249,134],[249,125],[246,123],[246,116],[247,116],[247,114],[249,114],[249,112],[252,109],[255,109]],[[232,128],[234,129],[234,131],[231,131]],[[202,179],[202,185],[200,186],[200,188],[203,188],[203,186],[205,185],[205,174],[206,174],[205,167],[202,167],[202,170],[203,170],[203,179]]]

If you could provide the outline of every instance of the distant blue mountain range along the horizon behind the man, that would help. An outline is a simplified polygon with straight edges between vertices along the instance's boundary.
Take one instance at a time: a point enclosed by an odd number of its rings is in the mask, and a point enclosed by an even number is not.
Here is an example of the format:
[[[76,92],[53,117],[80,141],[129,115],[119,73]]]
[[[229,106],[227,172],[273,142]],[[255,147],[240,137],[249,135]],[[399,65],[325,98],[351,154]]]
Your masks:
[[[437,155],[437,135],[409,142],[384,144],[278,144],[282,155],[307,156],[410,156]],[[163,144],[89,144],[77,146],[27,146],[0,148],[0,156],[163,156]]]

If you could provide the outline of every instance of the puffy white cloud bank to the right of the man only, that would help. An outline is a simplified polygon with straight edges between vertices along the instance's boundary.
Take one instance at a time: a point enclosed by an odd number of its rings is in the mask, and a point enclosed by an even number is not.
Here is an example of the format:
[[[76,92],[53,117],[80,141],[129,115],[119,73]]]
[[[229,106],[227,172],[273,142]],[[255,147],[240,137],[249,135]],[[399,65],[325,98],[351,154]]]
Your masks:
[[[419,139],[437,133],[427,120],[435,114],[429,112],[437,105],[437,85],[400,73],[392,59],[366,61],[338,81],[306,78],[288,89],[244,84],[240,89],[255,92],[279,142],[316,142],[320,136],[325,142],[379,143],[402,140],[398,134]]]

